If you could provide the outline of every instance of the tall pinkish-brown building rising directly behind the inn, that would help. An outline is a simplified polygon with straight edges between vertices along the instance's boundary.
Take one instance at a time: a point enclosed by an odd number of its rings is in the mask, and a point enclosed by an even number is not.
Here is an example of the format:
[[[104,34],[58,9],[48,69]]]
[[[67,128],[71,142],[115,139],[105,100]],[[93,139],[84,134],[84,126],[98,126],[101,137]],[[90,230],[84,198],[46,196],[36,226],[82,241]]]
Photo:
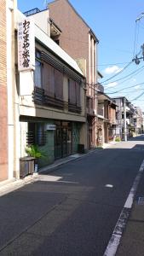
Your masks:
[[[87,133],[89,148],[96,146],[97,134],[97,44],[98,39],[85,20],[78,15],[77,10],[67,0],[49,3],[49,17],[60,28],[55,42],[65,49],[68,55],[78,62],[78,66],[86,76],[87,82]]]

